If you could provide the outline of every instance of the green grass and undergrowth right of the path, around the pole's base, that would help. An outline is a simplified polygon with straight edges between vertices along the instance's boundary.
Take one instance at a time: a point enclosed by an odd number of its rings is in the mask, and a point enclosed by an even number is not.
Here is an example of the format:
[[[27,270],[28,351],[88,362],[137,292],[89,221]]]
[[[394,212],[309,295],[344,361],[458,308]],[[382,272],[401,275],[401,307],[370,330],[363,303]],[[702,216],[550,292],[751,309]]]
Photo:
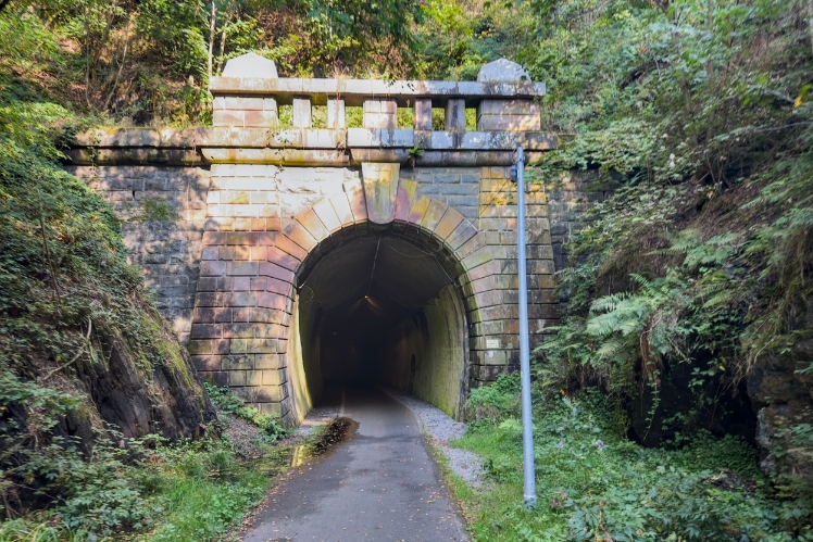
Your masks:
[[[458,442],[486,459],[485,490],[458,484],[478,541],[813,540],[810,502],[774,489],[745,440],[695,431],[679,448],[626,437],[626,413],[596,389],[534,387],[536,509],[525,509],[518,378],[472,392]]]

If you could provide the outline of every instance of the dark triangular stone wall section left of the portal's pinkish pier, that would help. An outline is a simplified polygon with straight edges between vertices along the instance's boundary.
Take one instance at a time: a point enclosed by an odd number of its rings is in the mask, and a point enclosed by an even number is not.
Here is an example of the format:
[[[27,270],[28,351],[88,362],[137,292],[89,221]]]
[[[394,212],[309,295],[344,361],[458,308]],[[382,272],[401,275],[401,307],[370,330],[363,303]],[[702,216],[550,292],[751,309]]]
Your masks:
[[[73,166],[122,219],[127,260],[145,274],[182,343],[191,330],[209,172],[199,167]]]

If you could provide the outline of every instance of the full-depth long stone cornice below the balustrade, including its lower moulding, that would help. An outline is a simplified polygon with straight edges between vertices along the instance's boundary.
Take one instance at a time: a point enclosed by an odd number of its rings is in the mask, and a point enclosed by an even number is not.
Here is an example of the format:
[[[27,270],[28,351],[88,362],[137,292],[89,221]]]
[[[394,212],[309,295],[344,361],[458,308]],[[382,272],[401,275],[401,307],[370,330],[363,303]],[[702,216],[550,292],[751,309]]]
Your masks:
[[[529,160],[559,144],[542,131],[428,131],[376,128],[95,129],[65,151],[75,165],[279,164],[347,166],[364,162],[424,166],[503,166],[522,146]]]

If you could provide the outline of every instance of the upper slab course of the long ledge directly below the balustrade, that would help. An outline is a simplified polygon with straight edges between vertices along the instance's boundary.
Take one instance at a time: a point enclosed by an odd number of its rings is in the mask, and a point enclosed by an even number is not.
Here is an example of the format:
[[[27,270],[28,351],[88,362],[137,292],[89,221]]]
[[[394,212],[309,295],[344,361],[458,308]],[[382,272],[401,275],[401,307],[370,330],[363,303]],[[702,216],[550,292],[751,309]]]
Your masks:
[[[412,149],[438,151],[527,151],[556,149],[559,137],[546,131],[430,131],[411,128],[99,128],[78,134],[76,149]]]

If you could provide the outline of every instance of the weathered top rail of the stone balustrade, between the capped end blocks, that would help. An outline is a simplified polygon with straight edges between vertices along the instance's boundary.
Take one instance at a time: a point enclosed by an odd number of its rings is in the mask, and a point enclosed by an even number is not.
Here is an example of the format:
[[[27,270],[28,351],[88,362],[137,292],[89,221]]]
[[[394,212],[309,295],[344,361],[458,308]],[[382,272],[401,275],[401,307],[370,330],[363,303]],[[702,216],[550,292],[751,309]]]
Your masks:
[[[462,98],[466,106],[476,106],[483,99],[534,99],[545,96],[543,83],[517,81],[431,81],[382,79],[298,79],[259,77],[212,77],[209,90],[214,96],[268,96],[282,104],[293,98],[311,99],[324,105],[328,98],[345,100],[350,106],[362,105],[365,99],[387,98],[399,106],[410,108],[418,98],[429,98],[433,105],[443,105],[451,98]],[[437,103],[435,103],[437,102]]]

